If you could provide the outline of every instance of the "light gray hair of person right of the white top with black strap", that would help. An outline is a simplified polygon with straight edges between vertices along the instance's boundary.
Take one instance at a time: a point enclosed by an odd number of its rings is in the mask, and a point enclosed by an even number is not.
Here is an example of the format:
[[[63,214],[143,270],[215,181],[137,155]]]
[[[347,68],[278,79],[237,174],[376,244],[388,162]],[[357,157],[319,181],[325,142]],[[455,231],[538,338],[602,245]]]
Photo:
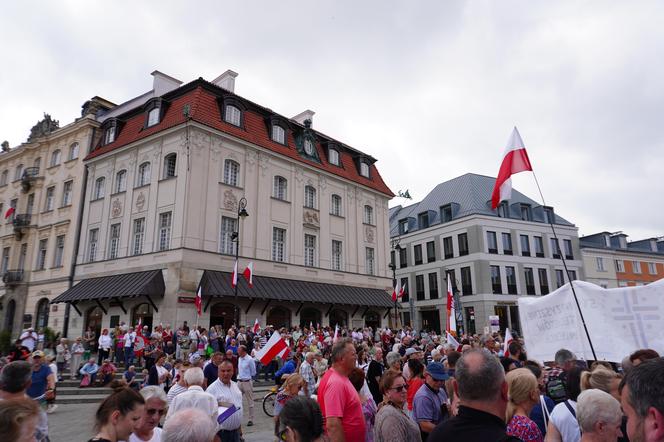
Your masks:
[[[620,402],[602,390],[582,391],[576,402],[576,418],[584,433],[592,433],[599,422],[618,424],[622,420]]]

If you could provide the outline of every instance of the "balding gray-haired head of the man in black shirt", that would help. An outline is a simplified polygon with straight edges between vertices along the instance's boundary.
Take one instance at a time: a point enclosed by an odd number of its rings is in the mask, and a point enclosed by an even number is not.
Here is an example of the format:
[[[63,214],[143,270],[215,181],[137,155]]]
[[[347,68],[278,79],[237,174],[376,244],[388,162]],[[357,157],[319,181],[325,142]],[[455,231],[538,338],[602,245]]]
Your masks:
[[[505,370],[491,353],[474,349],[457,361],[455,377],[462,400],[493,401],[500,396]]]

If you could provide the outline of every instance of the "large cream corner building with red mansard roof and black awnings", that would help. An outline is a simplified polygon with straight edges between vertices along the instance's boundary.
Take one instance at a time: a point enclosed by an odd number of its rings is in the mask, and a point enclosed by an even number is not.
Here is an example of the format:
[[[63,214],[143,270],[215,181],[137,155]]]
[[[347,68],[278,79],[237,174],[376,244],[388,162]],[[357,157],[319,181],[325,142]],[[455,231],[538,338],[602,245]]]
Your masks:
[[[70,334],[120,322],[384,325],[388,201],[376,160],[234,93],[236,73],[97,114]],[[254,284],[231,285],[253,262]],[[200,288],[203,312],[194,297]]]

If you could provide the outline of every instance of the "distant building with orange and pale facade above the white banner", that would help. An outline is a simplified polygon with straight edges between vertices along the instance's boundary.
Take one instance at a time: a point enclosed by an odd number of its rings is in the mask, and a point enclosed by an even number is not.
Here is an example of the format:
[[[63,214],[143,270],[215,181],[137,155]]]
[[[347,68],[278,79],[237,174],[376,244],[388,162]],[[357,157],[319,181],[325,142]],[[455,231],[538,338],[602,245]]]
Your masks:
[[[623,232],[600,232],[579,242],[588,282],[614,288],[664,278],[664,238],[628,242]]]

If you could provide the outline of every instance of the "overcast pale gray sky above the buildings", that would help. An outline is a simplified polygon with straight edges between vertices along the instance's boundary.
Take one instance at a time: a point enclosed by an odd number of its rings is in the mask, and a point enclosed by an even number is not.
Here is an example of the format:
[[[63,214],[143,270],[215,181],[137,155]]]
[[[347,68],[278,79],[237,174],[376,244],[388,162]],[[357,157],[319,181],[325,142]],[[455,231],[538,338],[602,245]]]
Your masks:
[[[414,201],[495,176],[516,125],[546,203],[580,234],[660,236],[662,23],[658,1],[10,2],[0,140],[146,92],[155,69],[185,83],[233,69],[236,93],[315,111]],[[532,174],[513,185],[540,200]]]

